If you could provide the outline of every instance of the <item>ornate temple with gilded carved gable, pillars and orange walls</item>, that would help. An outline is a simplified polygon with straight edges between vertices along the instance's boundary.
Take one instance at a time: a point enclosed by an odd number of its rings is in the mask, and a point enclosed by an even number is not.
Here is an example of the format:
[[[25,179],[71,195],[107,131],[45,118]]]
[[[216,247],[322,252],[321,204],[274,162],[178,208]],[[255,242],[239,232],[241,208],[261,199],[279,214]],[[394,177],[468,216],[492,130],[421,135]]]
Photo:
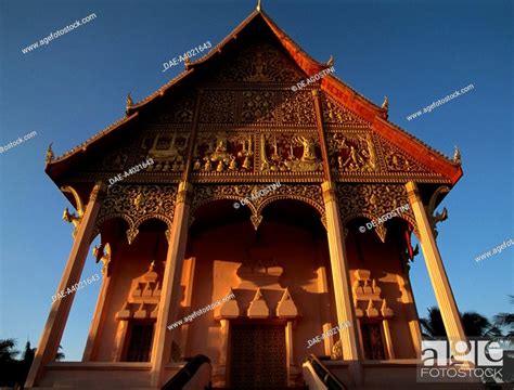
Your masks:
[[[323,388],[319,369],[347,388],[393,372],[415,385],[413,235],[448,337],[465,340],[434,216],[459,154],[390,122],[387,100],[333,65],[258,8],[155,93],[129,96],[123,119],[49,150],[46,172],[76,209],[57,290],[91,250],[103,278],[81,362],[54,362],[69,295],[52,304],[27,388],[160,389],[197,355],[207,363],[184,389]]]

